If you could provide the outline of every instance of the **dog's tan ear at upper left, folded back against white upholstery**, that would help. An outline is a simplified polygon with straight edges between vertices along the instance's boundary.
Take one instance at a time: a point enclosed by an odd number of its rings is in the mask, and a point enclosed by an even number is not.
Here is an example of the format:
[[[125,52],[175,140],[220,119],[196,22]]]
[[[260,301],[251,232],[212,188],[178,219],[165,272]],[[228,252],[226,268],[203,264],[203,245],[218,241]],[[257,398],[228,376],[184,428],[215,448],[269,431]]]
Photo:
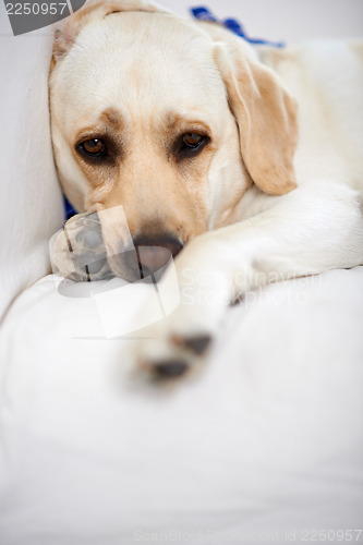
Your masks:
[[[68,17],[65,22],[62,22],[60,27],[56,29],[52,64],[56,64],[59,59],[66,55],[83,26],[92,21],[104,19],[111,13],[121,11],[169,13],[168,10],[148,0],[90,0],[85,7]]]

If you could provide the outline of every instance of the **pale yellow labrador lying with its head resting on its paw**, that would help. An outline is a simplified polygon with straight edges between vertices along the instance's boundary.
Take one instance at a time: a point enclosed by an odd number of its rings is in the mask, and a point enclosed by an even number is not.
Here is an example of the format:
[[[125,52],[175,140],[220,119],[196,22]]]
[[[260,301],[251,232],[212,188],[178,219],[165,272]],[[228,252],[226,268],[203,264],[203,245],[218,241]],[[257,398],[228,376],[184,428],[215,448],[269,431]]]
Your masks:
[[[255,49],[148,1],[89,3],[57,32],[50,108],[78,239],[99,252],[87,274],[135,269],[117,214],[86,229],[119,205],[138,266],[176,257],[181,303],[134,347],[161,376],[195,366],[247,290],[363,263],[362,43]]]

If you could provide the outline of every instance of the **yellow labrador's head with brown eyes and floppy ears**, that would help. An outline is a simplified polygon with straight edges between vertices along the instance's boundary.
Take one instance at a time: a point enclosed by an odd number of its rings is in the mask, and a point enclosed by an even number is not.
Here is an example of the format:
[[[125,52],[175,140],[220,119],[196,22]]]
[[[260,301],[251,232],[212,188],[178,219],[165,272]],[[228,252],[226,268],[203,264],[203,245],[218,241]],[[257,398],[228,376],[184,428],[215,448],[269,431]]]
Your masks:
[[[109,0],[58,31],[51,65],[53,149],[82,211],[122,205],[133,239],[176,254],[226,225],[255,183],[295,186],[295,104],[242,39],[147,1]],[[108,252],[123,223],[102,226]]]

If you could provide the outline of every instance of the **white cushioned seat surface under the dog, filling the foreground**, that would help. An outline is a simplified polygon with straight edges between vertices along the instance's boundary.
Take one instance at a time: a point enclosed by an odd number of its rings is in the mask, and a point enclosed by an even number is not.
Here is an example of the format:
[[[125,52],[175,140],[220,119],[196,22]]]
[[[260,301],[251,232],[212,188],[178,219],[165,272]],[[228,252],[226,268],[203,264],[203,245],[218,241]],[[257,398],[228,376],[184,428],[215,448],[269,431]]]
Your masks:
[[[132,377],[133,341],[100,339],[90,299],[52,277],[26,290],[0,337],[1,543],[361,528],[362,281],[359,267],[251,296],[203,373],[170,389]]]

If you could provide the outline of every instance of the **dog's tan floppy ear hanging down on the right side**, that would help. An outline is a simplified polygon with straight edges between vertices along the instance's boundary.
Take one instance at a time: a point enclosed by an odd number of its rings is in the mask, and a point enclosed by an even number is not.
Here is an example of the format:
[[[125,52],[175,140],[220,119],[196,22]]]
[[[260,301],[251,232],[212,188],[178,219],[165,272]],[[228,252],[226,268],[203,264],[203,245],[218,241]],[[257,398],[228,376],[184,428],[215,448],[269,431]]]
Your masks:
[[[216,62],[239,125],[245,167],[262,191],[283,195],[297,186],[297,102],[274,72],[254,57],[249,45],[215,25],[208,26],[208,34],[218,40]]]

